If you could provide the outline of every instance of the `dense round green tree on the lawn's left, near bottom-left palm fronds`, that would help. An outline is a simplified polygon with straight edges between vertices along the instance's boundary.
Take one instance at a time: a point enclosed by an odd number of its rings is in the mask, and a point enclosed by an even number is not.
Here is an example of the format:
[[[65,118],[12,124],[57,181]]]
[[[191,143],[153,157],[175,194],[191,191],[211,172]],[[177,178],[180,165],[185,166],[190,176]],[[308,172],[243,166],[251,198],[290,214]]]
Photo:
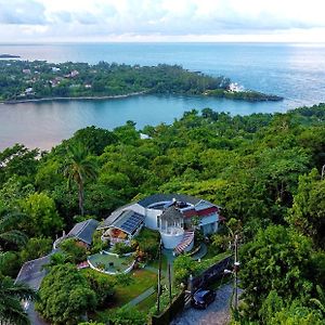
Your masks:
[[[36,309],[54,324],[77,324],[98,304],[96,294],[73,264],[53,266],[43,278]]]

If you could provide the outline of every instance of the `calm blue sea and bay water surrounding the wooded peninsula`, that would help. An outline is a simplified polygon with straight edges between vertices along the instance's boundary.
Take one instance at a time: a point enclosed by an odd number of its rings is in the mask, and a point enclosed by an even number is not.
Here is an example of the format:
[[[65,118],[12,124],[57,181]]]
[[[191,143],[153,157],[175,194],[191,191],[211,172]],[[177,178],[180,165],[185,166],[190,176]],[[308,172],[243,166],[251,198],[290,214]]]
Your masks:
[[[191,70],[230,77],[247,89],[285,98],[278,103],[245,103],[210,98],[138,96],[108,101],[61,101],[0,105],[0,150],[15,142],[50,148],[77,129],[114,128],[127,120],[171,122],[184,110],[211,107],[231,114],[285,112],[325,102],[325,46],[268,43],[0,44],[0,53],[49,62],[99,61],[181,64]]]

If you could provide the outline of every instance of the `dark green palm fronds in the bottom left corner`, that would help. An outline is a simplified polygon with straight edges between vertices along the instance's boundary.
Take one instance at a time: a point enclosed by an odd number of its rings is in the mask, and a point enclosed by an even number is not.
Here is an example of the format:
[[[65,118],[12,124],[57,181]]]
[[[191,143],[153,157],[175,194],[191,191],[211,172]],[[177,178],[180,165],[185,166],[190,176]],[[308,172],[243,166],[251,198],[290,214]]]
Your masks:
[[[22,306],[23,300],[35,300],[36,291],[9,276],[0,276],[0,324],[30,324]]]

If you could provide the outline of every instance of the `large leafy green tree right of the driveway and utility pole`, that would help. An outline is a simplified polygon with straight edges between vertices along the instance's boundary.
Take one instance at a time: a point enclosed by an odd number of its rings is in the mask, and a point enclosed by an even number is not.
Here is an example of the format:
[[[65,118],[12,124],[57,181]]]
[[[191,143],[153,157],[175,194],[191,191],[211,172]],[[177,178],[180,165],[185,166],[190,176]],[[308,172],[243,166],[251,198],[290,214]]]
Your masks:
[[[257,318],[271,290],[289,300],[311,292],[311,250],[309,238],[282,225],[260,230],[251,243],[243,246],[240,281],[251,318]]]

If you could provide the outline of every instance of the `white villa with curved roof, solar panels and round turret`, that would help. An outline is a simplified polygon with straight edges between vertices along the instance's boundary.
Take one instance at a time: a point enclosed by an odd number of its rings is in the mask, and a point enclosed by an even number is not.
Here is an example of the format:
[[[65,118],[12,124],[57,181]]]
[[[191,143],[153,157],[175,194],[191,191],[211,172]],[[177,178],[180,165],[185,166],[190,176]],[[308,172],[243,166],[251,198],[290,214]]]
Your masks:
[[[143,226],[158,231],[164,247],[176,255],[194,245],[194,230],[205,235],[218,231],[219,207],[200,198],[182,194],[154,194],[126,205],[106,218],[98,230],[112,244],[130,244]]]

